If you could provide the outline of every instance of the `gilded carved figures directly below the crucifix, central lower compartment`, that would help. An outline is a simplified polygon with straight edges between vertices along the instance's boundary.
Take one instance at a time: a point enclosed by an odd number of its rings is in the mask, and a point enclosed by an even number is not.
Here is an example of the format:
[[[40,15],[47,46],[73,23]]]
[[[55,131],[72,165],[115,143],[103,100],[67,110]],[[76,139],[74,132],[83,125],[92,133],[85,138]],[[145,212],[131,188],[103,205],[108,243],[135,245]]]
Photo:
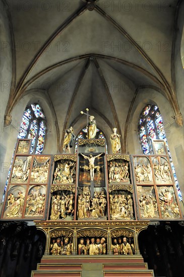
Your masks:
[[[94,192],[93,198],[90,191],[79,194],[78,219],[98,219],[105,217],[106,196],[103,191]]]

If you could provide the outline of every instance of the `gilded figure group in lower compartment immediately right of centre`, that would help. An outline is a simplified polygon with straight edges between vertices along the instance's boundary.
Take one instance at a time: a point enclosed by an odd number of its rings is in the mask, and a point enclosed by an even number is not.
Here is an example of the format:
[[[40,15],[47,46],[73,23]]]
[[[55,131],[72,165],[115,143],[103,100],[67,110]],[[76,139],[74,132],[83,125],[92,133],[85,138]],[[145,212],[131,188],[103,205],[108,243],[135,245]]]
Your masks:
[[[110,217],[112,220],[117,219],[134,219],[133,199],[130,194],[110,194]]]

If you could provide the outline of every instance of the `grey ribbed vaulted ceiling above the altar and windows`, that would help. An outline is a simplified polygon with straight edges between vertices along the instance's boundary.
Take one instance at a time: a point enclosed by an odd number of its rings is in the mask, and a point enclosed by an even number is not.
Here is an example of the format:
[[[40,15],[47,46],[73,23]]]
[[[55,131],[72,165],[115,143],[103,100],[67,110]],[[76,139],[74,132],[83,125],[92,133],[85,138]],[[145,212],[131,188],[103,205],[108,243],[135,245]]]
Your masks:
[[[62,143],[63,130],[76,124],[86,107],[110,128],[117,126],[123,140],[119,122],[129,120],[139,88],[162,93],[178,113],[171,85],[175,0],[27,0],[18,6],[6,0],[6,5],[14,46],[7,114],[25,93],[45,91],[57,121],[65,122],[59,127]]]

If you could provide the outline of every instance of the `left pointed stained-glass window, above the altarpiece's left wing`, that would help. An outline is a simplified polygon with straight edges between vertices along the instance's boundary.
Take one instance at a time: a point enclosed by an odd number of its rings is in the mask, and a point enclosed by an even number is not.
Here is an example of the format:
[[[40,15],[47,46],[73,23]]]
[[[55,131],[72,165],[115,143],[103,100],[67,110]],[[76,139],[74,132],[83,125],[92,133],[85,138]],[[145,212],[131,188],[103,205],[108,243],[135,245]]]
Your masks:
[[[41,154],[46,136],[45,116],[38,104],[26,107],[18,138],[31,138],[31,153]]]

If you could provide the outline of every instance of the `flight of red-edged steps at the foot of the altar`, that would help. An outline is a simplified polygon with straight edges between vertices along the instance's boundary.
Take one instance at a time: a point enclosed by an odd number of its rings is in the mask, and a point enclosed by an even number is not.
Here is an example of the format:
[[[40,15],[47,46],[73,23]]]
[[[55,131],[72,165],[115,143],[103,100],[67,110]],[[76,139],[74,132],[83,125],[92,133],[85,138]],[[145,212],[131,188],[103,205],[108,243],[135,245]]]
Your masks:
[[[153,277],[141,255],[44,255],[32,277]]]

